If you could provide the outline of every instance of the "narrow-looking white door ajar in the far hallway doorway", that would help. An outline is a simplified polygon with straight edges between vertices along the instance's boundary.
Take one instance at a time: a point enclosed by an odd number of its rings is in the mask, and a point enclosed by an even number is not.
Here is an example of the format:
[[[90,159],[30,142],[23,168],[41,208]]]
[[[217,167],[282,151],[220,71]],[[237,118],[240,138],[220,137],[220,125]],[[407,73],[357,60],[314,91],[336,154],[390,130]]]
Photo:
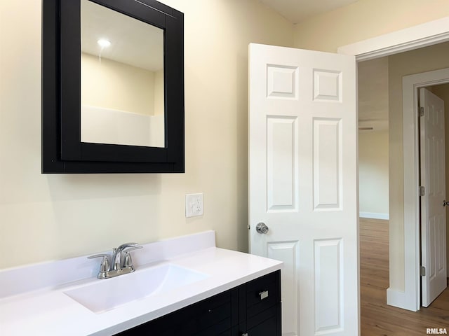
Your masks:
[[[446,288],[446,220],[444,102],[420,89],[421,265],[422,306],[428,307]]]

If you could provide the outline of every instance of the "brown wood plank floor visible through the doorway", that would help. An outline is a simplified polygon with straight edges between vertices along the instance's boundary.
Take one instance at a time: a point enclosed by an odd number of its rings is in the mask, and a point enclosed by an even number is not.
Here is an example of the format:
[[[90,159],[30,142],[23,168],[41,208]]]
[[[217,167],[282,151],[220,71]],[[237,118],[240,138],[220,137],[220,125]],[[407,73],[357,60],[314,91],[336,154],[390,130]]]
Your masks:
[[[388,251],[388,221],[361,218],[361,336],[422,336],[427,328],[449,333],[449,288],[417,312],[387,306]]]

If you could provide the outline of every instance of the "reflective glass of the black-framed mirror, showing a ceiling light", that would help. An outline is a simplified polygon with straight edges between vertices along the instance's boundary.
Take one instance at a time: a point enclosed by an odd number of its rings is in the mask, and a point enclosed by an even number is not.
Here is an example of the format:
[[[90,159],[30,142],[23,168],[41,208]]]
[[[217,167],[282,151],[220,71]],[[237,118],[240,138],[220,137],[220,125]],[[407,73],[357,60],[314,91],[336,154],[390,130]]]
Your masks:
[[[81,141],[165,147],[163,29],[81,0]]]

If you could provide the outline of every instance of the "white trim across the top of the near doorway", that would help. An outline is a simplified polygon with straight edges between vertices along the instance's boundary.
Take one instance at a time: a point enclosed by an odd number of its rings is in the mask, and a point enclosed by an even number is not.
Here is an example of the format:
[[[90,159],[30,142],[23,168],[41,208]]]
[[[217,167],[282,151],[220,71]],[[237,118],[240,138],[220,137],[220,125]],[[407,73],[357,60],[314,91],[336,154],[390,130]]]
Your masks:
[[[449,41],[449,16],[368,40],[343,45],[339,54],[354,55],[357,61],[393,55]]]

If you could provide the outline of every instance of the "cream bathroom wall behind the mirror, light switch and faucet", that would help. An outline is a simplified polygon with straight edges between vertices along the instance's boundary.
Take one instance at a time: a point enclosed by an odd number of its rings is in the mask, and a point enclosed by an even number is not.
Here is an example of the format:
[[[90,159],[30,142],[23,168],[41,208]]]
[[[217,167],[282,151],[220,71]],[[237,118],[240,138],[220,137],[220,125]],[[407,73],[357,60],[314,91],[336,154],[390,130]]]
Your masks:
[[[248,43],[293,45],[257,0],[185,13],[185,174],[41,174],[41,1],[0,1],[0,268],[213,229],[248,249]],[[185,218],[185,194],[204,215]]]

